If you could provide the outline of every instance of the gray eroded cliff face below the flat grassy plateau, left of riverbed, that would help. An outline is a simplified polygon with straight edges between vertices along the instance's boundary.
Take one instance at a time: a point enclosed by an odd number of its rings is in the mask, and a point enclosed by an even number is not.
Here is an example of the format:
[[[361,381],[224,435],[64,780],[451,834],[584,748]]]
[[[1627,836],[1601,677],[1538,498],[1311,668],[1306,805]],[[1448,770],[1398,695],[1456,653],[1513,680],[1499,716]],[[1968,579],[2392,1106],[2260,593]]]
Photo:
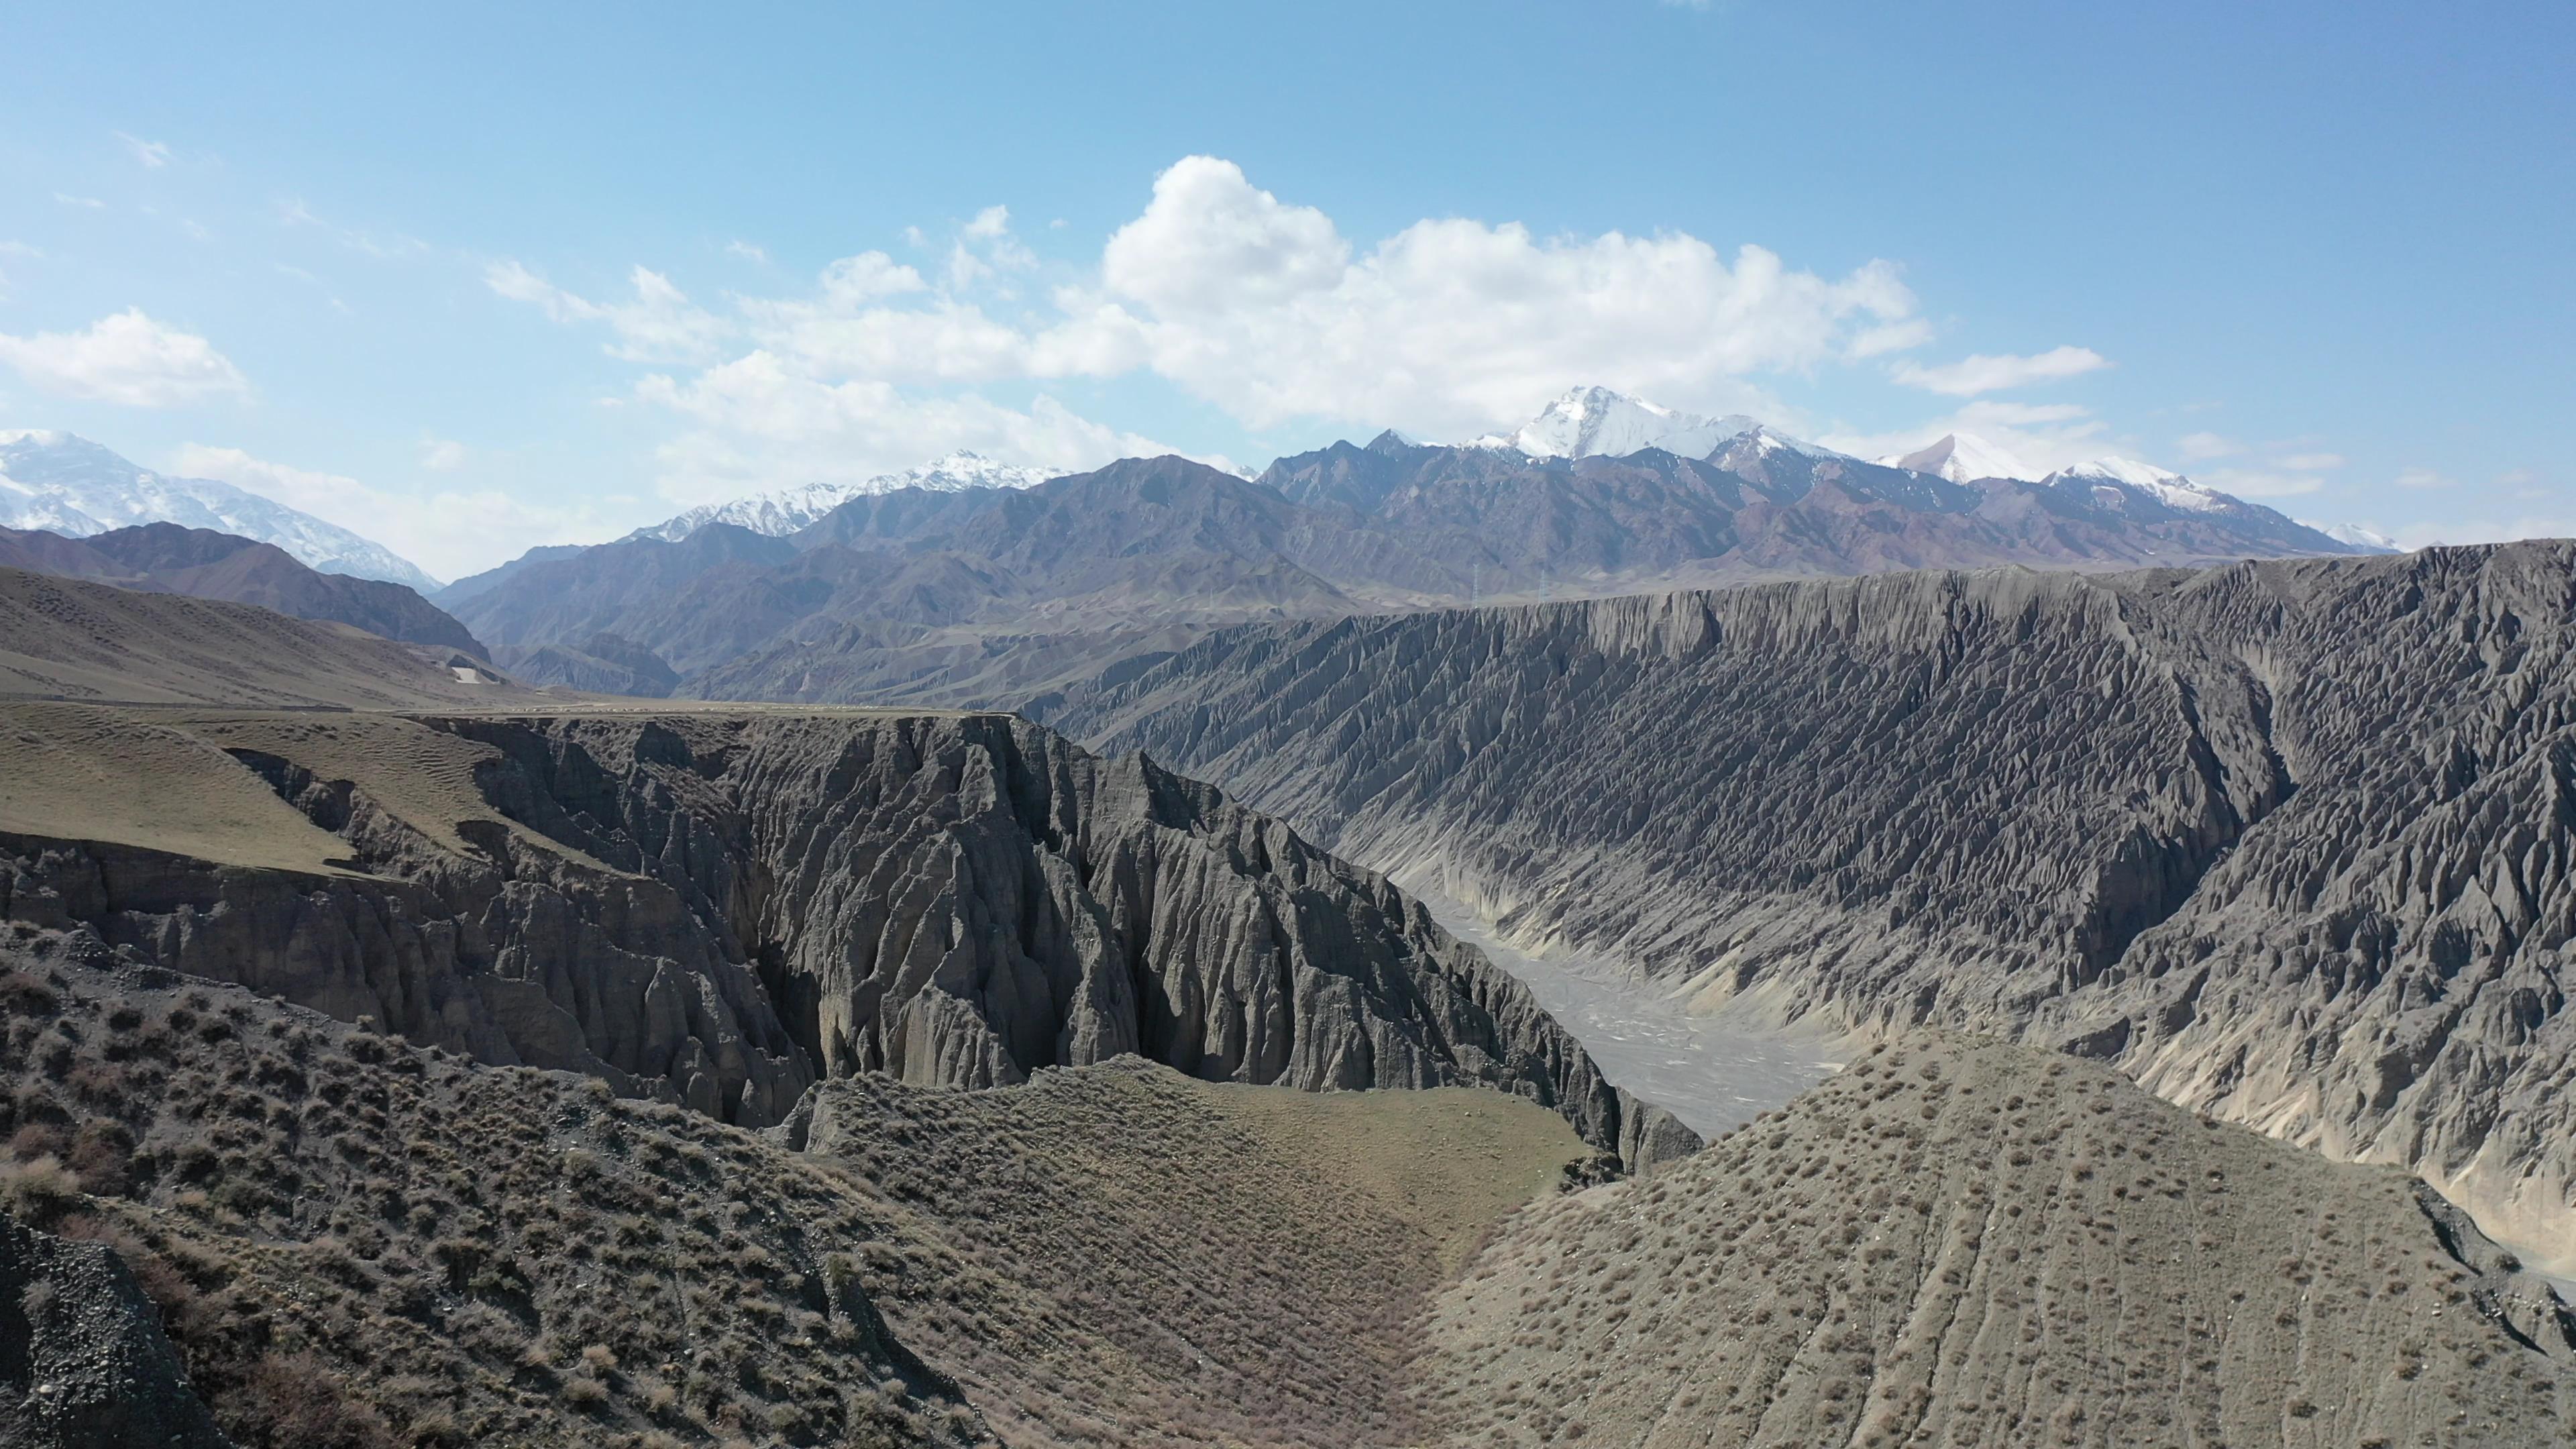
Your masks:
[[[0,835],[0,913],[755,1127],[819,1075],[999,1085],[1139,1052],[1208,1080],[1512,1091],[1638,1165],[1695,1145],[1381,877],[1020,719],[196,727],[345,838],[350,871]],[[440,771],[471,779],[438,794]]]

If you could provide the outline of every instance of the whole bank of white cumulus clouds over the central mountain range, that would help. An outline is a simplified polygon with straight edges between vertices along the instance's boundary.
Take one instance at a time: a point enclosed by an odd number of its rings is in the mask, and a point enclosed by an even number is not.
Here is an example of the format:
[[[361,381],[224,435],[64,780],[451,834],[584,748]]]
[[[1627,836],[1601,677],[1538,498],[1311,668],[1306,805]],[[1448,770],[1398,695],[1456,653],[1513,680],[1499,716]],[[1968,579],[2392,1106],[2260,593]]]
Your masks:
[[[976,392],[989,387],[1149,374],[1247,428],[1473,436],[1577,382],[1736,410],[1762,405],[1762,374],[1929,338],[1891,263],[1824,276],[1680,232],[1540,237],[1455,217],[1360,245],[1218,157],[1157,175],[1087,266],[1048,271],[1007,206],[907,240],[930,260],[863,250],[796,294],[732,297],[724,315],[641,266],[634,302],[572,294],[515,260],[484,281],[559,322],[605,327],[613,356],[690,369],[634,389],[690,428],[665,449],[675,498],[737,474],[881,472],[953,446],[1051,467],[1159,449],[1046,394],[1005,405]],[[1048,286],[1023,299],[1041,276]]]

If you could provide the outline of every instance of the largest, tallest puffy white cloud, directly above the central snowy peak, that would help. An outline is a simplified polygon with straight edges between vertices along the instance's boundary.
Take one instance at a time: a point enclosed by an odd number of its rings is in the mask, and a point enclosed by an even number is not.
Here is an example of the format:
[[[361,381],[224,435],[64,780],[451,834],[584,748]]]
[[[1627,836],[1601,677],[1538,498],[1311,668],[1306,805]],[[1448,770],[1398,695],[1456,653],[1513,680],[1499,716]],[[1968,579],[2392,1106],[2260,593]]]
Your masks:
[[[1914,315],[1888,263],[1824,278],[1775,253],[1664,232],[1533,237],[1427,219],[1355,253],[1314,206],[1226,160],[1185,157],[1059,297],[1061,356],[1121,356],[1236,420],[1399,423],[1430,436],[1517,423],[1571,382],[1680,407],[1741,397],[1759,371],[1837,361]],[[1084,340],[1074,340],[1082,335]]]

